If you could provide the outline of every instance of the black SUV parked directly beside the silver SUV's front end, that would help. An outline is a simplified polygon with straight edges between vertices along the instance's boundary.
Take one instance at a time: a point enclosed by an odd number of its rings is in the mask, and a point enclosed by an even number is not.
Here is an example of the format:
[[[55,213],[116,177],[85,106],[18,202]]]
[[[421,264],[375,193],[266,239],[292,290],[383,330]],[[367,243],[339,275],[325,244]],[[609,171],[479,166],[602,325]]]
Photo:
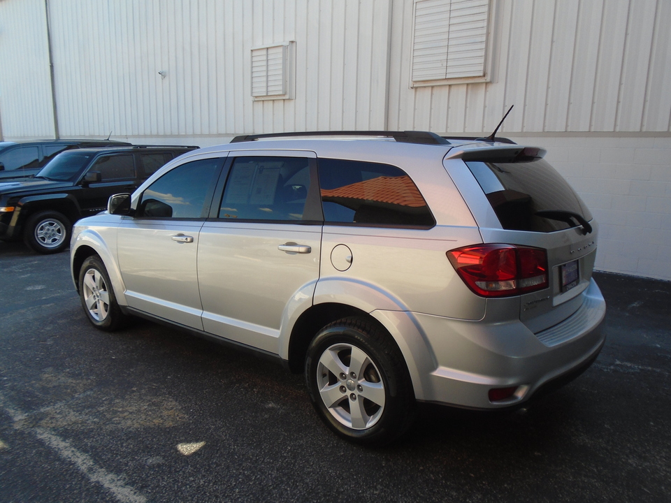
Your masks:
[[[198,147],[131,145],[67,150],[34,177],[0,183],[0,240],[42,254],[68,246],[73,222],[105,210],[171,159]]]

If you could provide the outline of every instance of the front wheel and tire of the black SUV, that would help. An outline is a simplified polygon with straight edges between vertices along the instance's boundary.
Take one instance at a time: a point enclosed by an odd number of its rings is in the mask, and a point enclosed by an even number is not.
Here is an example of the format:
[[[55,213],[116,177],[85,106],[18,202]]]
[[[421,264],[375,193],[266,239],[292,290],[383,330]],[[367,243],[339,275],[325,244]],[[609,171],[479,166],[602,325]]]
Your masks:
[[[43,211],[28,217],[23,240],[38,253],[52,254],[70,245],[71,232],[72,224],[64,214]]]

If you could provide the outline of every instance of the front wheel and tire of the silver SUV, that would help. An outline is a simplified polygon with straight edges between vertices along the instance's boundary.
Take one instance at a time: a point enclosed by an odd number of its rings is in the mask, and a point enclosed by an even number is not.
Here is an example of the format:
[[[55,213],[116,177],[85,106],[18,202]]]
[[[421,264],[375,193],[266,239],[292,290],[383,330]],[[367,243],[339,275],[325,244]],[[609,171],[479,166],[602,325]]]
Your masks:
[[[126,326],[129,316],[122,313],[112,282],[98,256],[90,256],[79,272],[79,298],[92,325],[106,332]]]

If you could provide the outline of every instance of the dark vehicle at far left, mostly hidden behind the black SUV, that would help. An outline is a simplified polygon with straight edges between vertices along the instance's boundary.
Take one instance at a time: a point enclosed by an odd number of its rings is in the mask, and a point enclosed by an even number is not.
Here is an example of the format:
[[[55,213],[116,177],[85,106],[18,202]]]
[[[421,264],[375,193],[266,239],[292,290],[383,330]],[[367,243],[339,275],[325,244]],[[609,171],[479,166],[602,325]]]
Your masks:
[[[131,145],[115,140],[40,140],[0,142],[0,181],[36,175],[51,159],[64,150],[89,147]]]

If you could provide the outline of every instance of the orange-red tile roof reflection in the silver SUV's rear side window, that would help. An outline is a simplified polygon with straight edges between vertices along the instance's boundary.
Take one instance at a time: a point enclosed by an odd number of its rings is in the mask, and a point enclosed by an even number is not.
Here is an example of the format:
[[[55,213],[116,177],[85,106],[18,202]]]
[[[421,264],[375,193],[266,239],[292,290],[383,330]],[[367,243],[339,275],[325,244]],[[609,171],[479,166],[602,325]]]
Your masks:
[[[363,199],[410,207],[424,207],[426,203],[410,177],[377,177],[338,189],[322,189],[323,198]]]

